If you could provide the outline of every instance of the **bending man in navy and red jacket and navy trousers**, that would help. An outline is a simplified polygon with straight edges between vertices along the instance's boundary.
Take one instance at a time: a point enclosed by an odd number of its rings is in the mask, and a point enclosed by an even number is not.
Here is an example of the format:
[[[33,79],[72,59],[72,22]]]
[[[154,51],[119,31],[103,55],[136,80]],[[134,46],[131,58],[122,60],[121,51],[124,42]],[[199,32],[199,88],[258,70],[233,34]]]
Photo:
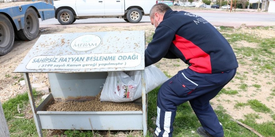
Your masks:
[[[172,137],[177,106],[189,101],[202,125],[198,134],[222,137],[222,125],[209,101],[235,76],[238,63],[230,44],[202,17],[173,11],[163,3],[152,7],[150,19],[156,30],[145,50],[145,66],[162,58],[189,65],[159,89],[155,134]]]

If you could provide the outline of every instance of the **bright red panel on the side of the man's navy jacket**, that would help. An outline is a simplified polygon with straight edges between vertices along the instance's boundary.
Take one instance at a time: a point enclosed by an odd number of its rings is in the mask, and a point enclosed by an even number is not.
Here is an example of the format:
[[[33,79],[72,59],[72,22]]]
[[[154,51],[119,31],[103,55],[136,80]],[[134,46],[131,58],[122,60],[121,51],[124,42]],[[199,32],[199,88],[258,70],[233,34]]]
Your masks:
[[[174,45],[182,52],[186,60],[192,64],[189,68],[198,73],[212,73],[210,55],[197,45],[185,38],[176,35]]]

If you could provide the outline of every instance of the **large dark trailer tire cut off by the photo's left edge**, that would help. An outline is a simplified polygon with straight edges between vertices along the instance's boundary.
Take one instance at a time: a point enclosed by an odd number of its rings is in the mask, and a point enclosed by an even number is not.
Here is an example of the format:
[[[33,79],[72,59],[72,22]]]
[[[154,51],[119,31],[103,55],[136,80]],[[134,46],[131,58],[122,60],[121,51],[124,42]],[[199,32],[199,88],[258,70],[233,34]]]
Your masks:
[[[9,53],[14,42],[14,31],[11,21],[0,14],[0,55]]]

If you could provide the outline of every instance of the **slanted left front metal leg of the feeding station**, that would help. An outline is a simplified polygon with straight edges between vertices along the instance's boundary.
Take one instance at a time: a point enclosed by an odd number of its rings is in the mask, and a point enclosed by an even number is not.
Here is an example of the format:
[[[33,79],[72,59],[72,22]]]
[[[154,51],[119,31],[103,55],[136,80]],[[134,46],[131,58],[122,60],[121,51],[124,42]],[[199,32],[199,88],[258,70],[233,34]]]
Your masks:
[[[31,86],[29,74],[28,73],[23,73],[23,74],[24,74],[24,79],[27,87],[29,101],[32,108],[32,114],[33,114],[36,130],[37,130],[38,136],[42,137],[43,134],[42,134],[41,124],[40,124],[39,116],[37,115],[37,110],[36,110],[35,101],[32,94],[32,86]]]

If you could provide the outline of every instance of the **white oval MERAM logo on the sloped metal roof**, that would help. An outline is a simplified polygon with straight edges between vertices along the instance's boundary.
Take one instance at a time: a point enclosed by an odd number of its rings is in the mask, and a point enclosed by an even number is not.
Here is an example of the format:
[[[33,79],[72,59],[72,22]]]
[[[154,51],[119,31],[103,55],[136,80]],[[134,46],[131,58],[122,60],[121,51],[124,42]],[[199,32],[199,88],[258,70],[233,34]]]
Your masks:
[[[70,43],[73,51],[89,51],[97,48],[102,43],[102,38],[95,34],[85,34],[76,37]]]

